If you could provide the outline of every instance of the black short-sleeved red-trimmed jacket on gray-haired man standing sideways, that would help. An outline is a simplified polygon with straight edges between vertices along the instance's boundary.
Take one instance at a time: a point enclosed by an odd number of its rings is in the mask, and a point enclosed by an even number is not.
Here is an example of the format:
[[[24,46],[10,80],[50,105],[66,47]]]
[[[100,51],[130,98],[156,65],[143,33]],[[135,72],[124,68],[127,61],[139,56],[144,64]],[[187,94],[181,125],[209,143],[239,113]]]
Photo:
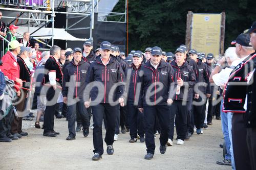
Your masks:
[[[44,80],[42,81],[42,84],[50,85],[48,73],[51,71],[56,72],[57,87],[62,86],[62,77],[63,77],[62,70],[59,63],[56,61],[56,59],[53,56],[50,56],[49,59],[46,61],[45,77],[44,77]]]

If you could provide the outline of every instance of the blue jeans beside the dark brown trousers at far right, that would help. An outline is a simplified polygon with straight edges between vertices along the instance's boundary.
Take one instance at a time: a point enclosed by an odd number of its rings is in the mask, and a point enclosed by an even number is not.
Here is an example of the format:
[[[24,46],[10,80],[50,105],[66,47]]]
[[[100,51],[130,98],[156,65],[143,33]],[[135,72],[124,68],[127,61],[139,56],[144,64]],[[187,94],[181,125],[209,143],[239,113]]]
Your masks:
[[[227,113],[222,111],[223,100],[221,100],[221,125],[222,125],[222,132],[224,135],[224,140],[226,142],[227,154],[225,155],[226,160],[231,160],[231,153],[230,153],[230,139],[228,133],[228,121],[227,121]]]

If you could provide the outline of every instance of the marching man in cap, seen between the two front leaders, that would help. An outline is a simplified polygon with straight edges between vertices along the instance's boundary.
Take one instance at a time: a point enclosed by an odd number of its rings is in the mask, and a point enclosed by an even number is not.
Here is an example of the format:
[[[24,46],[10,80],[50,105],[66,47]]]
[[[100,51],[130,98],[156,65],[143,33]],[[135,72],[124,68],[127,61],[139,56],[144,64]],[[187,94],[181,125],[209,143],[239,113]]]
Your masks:
[[[127,120],[129,122],[130,127],[130,143],[134,143],[137,141],[137,135],[140,137],[140,142],[145,141],[145,130],[144,130],[144,121],[143,121],[143,113],[138,110],[136,103],[138,103],[139,95],[136,95],[137,82],[139,77],[139,71],[141,69],[142,62],[142,53],[141,51],[137,51],[133,55],[133,63],[132,66],[127,70],[127,74],[131,75],[128,96],[127,96]],[[138,93],[139,94],[139,93]]]

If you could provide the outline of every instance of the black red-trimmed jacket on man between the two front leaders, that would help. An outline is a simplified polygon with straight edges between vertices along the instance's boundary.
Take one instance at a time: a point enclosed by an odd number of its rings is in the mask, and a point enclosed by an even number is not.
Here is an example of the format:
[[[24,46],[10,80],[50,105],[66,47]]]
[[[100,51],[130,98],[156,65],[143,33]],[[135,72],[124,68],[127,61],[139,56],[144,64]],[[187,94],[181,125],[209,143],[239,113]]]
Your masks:
[[[126,92],[128,94],[127,96],[127,101],[129,102],[136,102],[139,100],[139,94],[140,92],[137,92],[138,88],[137,88],[137,82],[138,82],[138,77],[139,77],[139,71],[141,69],[142,65],[140,65],[138,68],[136,68],[136,66],[132,63],[131,67],[129,69],[127,69],[127,74],[126,79],[130,79],[130,84],[129,84],[129,91]],[[128,74],[131,74],[128,75]],[[130,76],[130,78],[128,77]],[[127,80],[128,81],[128,80]],[[136,96],[136,93],[137,96]]]

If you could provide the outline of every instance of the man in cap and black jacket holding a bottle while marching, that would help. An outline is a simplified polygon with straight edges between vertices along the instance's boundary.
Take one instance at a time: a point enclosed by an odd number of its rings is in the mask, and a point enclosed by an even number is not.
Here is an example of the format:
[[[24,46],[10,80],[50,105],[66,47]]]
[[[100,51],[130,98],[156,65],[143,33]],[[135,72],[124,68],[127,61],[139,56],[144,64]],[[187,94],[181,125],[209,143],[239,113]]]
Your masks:
[[[170,131],[169,139],[174,136],[174,117],[177,131],[177,144],[184,144],[187,134],[187,118],[188,118],[188,102],[189,93],[194,89],[196,83],[196,75],[193,68],[188,65],[184,48],[177,48],[175,52],[175,60],[170,63],[175,71],[177,79],[177,91],[174,104],[170,106]],[[180,87],[179,87],[180,86]],[[180,89],[180,90],[179,90]]]

